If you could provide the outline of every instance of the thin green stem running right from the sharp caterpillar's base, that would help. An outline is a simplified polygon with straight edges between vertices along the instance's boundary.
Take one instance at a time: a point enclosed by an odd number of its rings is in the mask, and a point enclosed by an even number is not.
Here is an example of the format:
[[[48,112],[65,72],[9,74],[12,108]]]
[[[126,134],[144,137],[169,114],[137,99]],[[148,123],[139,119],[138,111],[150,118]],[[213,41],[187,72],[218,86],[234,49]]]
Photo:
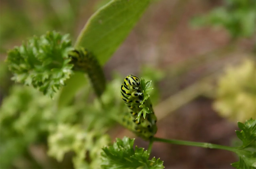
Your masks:
[[[164,138],[158,138],[158,137],[154,137],[153,141],[160,141],[160,142],[166,142],[166,143],[171,143],[171,144],[179,144],[179,145],[189,145],[189,146],[196,146],[196,147],[203,147],[203,148],[222,149],[222,150],[228,150],[228,151],[236,152],[235,147],[229,147],[229,146],[225,146],[225,145],[218,145],[218,144],[205,143],[205,142],[164,139]]]

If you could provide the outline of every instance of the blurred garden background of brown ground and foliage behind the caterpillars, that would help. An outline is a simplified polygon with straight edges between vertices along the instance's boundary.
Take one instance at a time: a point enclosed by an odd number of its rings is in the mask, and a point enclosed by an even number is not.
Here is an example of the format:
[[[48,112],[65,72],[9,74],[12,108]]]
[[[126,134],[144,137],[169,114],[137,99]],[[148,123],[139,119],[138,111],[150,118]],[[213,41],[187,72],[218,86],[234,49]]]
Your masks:
[[[98,168],[103,145],[135,137],[99,116],[90,86],[58,110],[54,100],[14,84],[4,62],[8,49],[46,31],[69,33],[74,43],[107,2],[1,1],[1,168]],[[116,111],[119,86],[134,74],[154,83],[157,137],[239,145],[237,121],[255,119],[255,51],[255,0],[154,1],[104,66],[108,111]],[[136,138],[135,145],[148,143]],[[160,142],[151,156],[165,168],[232,168],[238,160],[224,150]]]

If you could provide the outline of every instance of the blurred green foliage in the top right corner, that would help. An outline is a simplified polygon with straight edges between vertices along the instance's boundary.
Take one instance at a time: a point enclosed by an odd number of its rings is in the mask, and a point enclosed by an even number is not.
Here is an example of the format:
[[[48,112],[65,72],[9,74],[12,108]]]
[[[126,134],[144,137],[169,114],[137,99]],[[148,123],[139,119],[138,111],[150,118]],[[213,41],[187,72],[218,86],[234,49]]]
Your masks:
[[[194,18],[192,23],[195,26],[223,26],[234,38],[248,38],[255,35],[255,6],[255,0],[224,0],[224,6]]]

